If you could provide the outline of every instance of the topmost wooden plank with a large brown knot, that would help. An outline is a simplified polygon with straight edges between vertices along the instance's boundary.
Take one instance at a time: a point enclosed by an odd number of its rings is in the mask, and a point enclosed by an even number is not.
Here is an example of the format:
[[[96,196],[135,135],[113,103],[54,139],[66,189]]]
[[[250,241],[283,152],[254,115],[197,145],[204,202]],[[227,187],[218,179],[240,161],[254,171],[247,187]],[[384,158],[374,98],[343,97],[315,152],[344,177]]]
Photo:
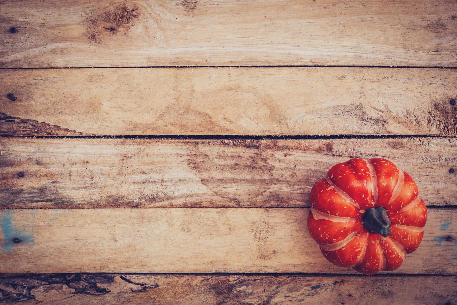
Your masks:
[[[454,0],[7,1],[0,65],[456,66],[456,15]]]

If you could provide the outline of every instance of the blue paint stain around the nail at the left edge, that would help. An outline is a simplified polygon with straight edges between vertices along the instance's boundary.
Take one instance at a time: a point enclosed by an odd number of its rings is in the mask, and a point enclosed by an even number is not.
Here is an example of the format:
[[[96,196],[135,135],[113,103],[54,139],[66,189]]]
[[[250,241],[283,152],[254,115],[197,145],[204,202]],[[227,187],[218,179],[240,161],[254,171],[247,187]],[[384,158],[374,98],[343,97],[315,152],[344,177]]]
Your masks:
[[[13,247],[25,244],[32,247],[35,244],[35,238],[33,236],[33,229],[26,228],[25,225],[22,228],[16,226],[11,216],[11,210],[5,210],[1,219],[1,231],[3,232],[3,246],[2,250],[5,252],[10,251]],[[18,243],[13,240],[17,238]]]

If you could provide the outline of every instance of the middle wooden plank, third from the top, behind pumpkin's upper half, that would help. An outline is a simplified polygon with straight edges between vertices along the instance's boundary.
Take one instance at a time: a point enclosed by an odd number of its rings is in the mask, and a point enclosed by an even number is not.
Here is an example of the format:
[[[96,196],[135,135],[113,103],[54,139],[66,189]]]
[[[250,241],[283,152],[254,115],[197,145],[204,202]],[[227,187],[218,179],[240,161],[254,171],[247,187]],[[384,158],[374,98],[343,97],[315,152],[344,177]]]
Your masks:
[[[388,158],[426,204],[457,205],[456,138],[3,138],[0,151],[0,208],[303,207],[350,157]]]

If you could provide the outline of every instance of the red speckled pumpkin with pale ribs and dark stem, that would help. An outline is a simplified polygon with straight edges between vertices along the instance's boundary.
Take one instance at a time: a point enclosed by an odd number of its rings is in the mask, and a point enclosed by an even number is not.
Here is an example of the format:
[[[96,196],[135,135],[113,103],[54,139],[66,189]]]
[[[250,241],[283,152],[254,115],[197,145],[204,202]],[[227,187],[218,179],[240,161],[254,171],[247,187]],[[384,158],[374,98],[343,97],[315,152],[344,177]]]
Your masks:
[[[427,207],[414,180],[385,159],[333,166],[310,204],[308,230],[324,257],[363,274],[399,268],[424,236]]]

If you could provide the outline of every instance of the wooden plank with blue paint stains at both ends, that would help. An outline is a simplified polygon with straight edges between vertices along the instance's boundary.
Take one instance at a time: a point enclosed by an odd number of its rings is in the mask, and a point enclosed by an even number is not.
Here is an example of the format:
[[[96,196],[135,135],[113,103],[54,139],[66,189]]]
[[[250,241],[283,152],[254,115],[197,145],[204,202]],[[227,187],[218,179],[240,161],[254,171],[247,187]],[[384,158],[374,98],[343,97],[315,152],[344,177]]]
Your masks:
[[[323,257],[308,234],[308,212],[1,210],[0,273],[355,273]],[[457,209],[429,209],[424,230],[420,248],[395,273],[456,274]]]

